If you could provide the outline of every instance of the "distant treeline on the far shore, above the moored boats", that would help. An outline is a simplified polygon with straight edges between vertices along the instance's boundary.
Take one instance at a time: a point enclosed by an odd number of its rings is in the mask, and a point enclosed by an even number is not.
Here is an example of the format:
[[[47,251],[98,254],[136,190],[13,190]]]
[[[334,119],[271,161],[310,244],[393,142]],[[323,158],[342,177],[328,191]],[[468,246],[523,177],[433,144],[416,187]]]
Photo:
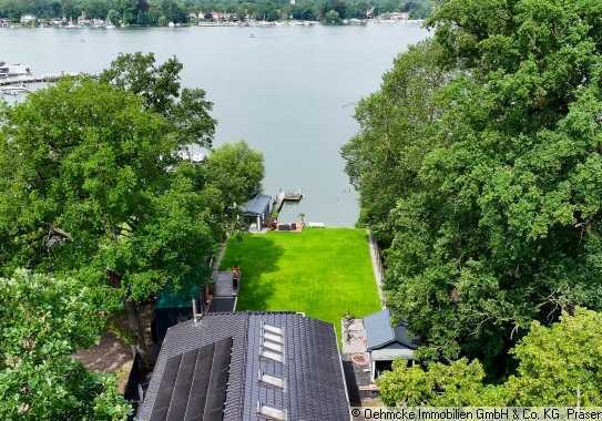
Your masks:
[[[232,13],[236,20],[366,19],[389,12],[408,12],[424,19],[431,0],[0,0],[0,19],[106,19],[115,25],[165,25],[211,20],[211,12]],[[331,20],[331,19],[330,19]],[[335,20],[337,21],[337,20]]]

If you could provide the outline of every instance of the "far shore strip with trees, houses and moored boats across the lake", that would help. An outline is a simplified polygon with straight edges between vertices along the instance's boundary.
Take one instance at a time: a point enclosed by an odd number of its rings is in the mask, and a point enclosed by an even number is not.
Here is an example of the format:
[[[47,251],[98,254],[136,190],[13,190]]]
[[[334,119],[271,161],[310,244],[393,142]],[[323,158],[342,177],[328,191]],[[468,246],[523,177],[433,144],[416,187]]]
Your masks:
[[[420,22],[431,0],[0,0],[0,28],[275,27]]]

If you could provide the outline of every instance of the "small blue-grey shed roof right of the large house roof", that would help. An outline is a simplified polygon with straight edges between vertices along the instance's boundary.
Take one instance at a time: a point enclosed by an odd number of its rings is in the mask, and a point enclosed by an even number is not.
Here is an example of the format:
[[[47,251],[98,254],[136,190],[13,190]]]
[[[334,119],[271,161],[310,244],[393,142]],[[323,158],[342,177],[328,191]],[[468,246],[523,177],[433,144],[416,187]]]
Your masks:
[[[366,348],[371,351],[394,343],[399,343],[409,349],[416,349],[419,342],[408,332],[402,324],[396,327],[391,326],[389,309],[374,312],[364,318],[364,328],[366,329]]]

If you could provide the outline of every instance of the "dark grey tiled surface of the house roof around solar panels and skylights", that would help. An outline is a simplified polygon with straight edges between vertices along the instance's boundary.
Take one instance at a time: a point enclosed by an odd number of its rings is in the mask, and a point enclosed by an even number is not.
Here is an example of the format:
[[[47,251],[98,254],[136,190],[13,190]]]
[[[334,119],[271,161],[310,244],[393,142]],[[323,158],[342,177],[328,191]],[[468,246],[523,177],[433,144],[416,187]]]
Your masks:
[[[262,357],[264,325],[282,329],[283,362]],[[170,358],[227,338],[232,352],[224,420],[263,420],[258,404],[285,410],[287,420],[349,420],[333,326],[294,312],[208,314],[196,325],[190,320],[170,328],[139,419],[151,419]],[[283,379],[284,389],[259,381],[261,374]]]

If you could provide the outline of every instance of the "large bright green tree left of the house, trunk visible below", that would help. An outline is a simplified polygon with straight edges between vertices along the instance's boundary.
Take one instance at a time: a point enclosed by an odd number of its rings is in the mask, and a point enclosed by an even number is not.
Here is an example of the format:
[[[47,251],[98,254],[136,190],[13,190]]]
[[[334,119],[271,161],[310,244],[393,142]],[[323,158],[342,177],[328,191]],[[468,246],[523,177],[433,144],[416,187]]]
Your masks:
[[[166,283],[208,274],[225,235],[218,193],[178,171],[174,125],[122,89],[63,81],[3,119],[4,270],[28,267],[113,286],[145,355],[140,305]]]

